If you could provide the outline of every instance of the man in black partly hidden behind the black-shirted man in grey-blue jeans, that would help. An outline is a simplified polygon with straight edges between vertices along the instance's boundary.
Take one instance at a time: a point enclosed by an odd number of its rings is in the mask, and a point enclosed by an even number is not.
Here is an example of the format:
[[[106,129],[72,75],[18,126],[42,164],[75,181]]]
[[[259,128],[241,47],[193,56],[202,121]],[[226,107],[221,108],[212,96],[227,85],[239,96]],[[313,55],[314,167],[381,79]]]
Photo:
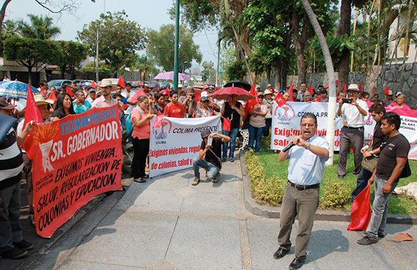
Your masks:
[[[374,104],[373,106],[370,106],[369,112],[373,120],[375,120],[377,124],[374,127],[373,139],[370,143],[371,147],[364,147],[361,149],[361,152],[363,154],[364,159],[378,159],[379,152],[381,152],[379,146],[381,146],[381,143],[386,138],[386,135],[384,135],[381,131],[381,118],[382,116],[384,116],[385,108],[380,104]],[[372,176],[372,173],[373,170],[369,171],[366,170],[366,168],[361,168],[361,171],[357,179],[357,187],[356,189],[354,189],[354,191],[352,191],[352,201],[356,196],[358,196],[359,193],[361,193],[361,191],[363,191],[363,189],[366,188],[366,185],[368,184],[368,180]]]

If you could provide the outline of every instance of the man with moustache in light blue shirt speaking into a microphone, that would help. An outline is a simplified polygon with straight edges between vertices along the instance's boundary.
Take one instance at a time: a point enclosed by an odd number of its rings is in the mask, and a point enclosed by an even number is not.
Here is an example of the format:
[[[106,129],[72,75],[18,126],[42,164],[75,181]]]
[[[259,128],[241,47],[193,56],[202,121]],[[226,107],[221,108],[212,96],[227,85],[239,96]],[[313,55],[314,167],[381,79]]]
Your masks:
[[[291,230],[295,216],[298,216],[298,232],[295,239],[295,258],[290,269],[299,269],[306,260],[306,249],[311,237],[314,215],[318,207],[320,182],[325,162],[329,159],[329,143],[316,135],[317,118],[305,113],[301,118],[301,136],[293,136],[286,152],[281,151],[278,161],[290,160],[288,184],[281,205],[278,234],[279,248],[274,254],[276,260],[284,257],[291,249]]]

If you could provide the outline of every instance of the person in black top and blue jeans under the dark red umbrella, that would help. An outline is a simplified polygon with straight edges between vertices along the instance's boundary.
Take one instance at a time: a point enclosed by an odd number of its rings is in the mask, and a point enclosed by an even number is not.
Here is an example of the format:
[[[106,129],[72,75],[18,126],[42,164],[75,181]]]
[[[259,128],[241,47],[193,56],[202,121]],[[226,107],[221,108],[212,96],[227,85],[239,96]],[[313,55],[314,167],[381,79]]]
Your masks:
[[[229,160],[234,162],[234,150],[236,149],[236,138],[238,137],[239,128],[240,128],[240,117],[245,116],[245,111],[243,110],[243,105],[236,100],[235,95],[231,95],[227,102],[224,102],[222,110],[220,111],[221,116],[230,120],[230,131],[222,130],[222,134],[230,137],[230,152]],[[227,146],[229,141],[223,142],[222,149],[222,161],[227,159]]]

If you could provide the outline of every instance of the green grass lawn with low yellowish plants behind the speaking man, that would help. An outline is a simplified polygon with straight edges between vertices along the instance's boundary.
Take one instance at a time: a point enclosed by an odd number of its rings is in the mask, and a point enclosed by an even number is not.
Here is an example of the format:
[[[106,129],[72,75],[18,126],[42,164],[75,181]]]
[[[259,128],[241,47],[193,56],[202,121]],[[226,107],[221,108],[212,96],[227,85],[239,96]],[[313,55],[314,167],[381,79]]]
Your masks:
[[[252,177],[251,175],[252,194],[254,194],[255,200],[263,204],[279,205],[281,202],[279,200],[279,196],[273,196],[272,200],[265,200],[262,195],[258,196],[259,198],[256,198],[256,194],[262,194],[264,191],[269,193],[283,192],[282,185],[286,184],[288,175],[288,160],[278,162],[278,154],[273,154],[273,152],[265,149],[263,149],[259,154],[254,154],[253,158],[249,157],[250,160],[248,159],[248,154],[246,154],[245,159],[247,161],[247,169],[249,173],[250,170],[253,170],[252,168],[254,168],[254,164],[259,165],[256,166],[257,170],[261,170],[259,177]],[[343,180],[339,180],[337,177],[337,160],[338,154],[335,154],[334,164],[332,166],[325,167],[323,180],[320,186],[320,208],[350,211],[352,203],[348,199],[350,198],[350,192],[354,190],[357,182],[357,175],[352,175],[354,167],[353,154],[347,155],[346,176]],[[417,161],[410,160],[409,164],[411,171],[417,172]],[[252,180],[252,178],[254,178],[254,180]],[[400,179],[398,186],[405,186],[406,184],[414,181],[416,181],[416,177],[412,174],[408,178]],[[259,184],[259,182],[263,182],[265,184]],[[261,192],[256,192],[256,189],[259,188],[261,189]],[[371,196],[373,195],[371,194]],[[405,196],[391,196],[389,200],[389,211],[392,214],[417,214],[417,202],[409,200]]]

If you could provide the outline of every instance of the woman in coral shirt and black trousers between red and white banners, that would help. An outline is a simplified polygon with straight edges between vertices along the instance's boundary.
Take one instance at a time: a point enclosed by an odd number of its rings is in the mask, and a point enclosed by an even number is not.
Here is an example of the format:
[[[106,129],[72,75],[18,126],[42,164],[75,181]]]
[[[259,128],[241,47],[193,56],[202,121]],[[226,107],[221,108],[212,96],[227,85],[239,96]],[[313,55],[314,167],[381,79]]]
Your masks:
[[[147,96],[138,97],[138,105],[133,108],[131,122],[133,125],[133,161],[131,170],[133,181],[138,183],[146,182],[144,177],[146,158],[149,153],[149,137],[151,133],[150,120],[154,117],[152,106],[149,104]]]

